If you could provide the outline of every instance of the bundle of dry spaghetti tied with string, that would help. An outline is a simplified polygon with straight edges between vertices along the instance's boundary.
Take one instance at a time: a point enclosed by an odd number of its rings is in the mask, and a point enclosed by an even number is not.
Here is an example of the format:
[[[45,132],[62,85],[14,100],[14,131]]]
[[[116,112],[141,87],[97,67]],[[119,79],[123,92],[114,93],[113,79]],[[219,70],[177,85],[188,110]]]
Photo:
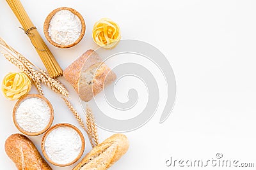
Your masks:
[[[35,47],[36,52],[40,56],[44,66],[49,72],[52,78],[62,75],[62,69],[59,66],[56,59],[54,59],[51,51],[45,45],[44,40],[40,36],[39,32],[36,30],[35,25],[31,22],[28,14],[24,10],[22,4],[19,0],[6,0],[10,8],[12,8],[13,13],[18,18],[20,24],[22,25],[23,31],[28,35],[32,45]]]

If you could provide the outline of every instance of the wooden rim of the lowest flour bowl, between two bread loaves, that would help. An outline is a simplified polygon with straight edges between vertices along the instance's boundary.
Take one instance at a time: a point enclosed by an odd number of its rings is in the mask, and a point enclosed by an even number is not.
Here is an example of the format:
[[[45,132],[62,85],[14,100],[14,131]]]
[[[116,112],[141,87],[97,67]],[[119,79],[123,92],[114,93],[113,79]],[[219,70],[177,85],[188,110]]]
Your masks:
[[[51,133],[51,131],[53,131],[54,129],[56,129],[58,127],[70,127],[72,129],[74,129],[79,134],[81,141],[82,141],[81,151],[80,151],[79,155],[77,156],[77,158],[75,160],[73,160],[72,162],[70,162],[68,164],[58,164],[56,162],[53,162],[48,157],[47,153],[45,152],[45,140],[46,140],[47,136]],[[83,136],[82,132],[79,129],[77,129],[76,126],[70,125],[70,124],[56,124],[56,125],[52,126],[47,132],[45,132],[45,134],[42,138],[42,142],[41,142],[41,149],[42,149],[45,159],[47,159],[51,164],[54,164],[55,166],[61,166],[61,167],[70,166],[70,165],[74,164],[75,162],[77,162],[77,160],[79,160],[84,153],[84,147],[85,147],[85,141],[84,141],[84,136]]]

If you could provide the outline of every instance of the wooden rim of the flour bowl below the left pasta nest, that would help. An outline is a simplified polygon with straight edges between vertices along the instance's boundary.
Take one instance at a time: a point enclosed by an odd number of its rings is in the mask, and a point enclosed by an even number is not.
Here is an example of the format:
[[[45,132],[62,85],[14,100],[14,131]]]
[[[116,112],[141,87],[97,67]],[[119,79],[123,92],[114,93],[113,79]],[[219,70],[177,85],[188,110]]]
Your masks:
[[[15,116],[15,113],[17,111],[17,109],[19,108],[20,106],[20,103],[22,103],[23,101],[25,101],[26,99],[29,99],[29,98],[39,98],[39,99],[42,99],[44,100],[47,105],[49,106],[50,108],[50,114],[51,114],[51,118],[50,118],[50,121],[49,121],[49,124],[45,127],[44,130],[40,131],[40,132],[28,132],[28,131],[24,131],[24,129],[22,129],[17,120],[16,120],[16,116]],[[49,129],[49,127],[51,127],[52,125],[52,122],[53,122],[53,118],[54,118],[54,111],[53,111],[53,108],[52,108],[52,104],[48,101],[48,99],[46,99],[44,96],[40,96],[39,94],[28,94],[24,97],[22,97],[21,99],[19,99],[19,101],[17,101],[17,103],[15,104],[14,108],[13,108],[13,112],[12,112],[12,118],[13,118],[13,122],[15,124],[15,126],[17,127],[17,129],[22,132],[23,134],[26,134],[26,135],[29,135],[29,136],[37,136],[37,135],[40,135],[40,134],[43,134],[45,131],[47,131]]]

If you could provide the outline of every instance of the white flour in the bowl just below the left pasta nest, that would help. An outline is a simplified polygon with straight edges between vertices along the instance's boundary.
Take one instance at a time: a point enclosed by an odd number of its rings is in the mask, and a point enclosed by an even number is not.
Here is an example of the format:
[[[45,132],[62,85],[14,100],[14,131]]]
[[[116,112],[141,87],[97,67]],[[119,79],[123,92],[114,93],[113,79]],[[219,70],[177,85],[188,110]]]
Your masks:
[[[19,104],[15,119],[24,131],[40,132],[51,120],[50,108],[43,99],[31,97]]]

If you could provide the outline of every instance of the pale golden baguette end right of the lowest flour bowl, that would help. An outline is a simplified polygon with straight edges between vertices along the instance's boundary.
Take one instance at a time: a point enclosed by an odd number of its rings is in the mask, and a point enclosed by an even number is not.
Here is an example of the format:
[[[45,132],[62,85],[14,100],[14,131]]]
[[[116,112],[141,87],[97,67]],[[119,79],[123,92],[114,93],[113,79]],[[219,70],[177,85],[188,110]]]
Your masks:
[[[124,134],[114,134],[91,152],[73,170],[105,170],[124,155],[129,148],[129,141]]]

